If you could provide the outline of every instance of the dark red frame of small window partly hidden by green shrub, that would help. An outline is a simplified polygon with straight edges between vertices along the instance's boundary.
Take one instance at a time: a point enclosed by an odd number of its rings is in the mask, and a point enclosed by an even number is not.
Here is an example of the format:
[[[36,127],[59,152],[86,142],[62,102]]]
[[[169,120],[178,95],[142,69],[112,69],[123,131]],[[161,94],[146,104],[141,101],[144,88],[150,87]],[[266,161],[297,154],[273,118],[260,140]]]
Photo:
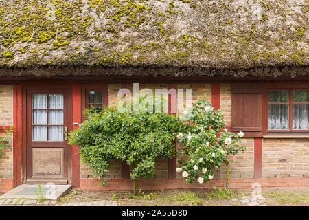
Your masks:
[[[89,85],[82,85],[82,121],[85,120],[84,118],[84,109],[88,109],[88,91],[102,91],[102,109],[104,106],[108,106],[108,84],[102,83],[98,84],[89,84]]]

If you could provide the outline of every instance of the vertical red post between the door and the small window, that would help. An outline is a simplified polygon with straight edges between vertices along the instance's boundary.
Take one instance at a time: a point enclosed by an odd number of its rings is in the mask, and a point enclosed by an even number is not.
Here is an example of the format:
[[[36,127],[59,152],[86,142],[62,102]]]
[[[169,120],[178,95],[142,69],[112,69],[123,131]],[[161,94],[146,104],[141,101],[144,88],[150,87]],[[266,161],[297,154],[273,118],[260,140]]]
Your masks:
[[[81,85],[72,86],[73,99],[73,129],[78,129],[78,124],[82,122],[82,87]],[[78,124],[74,124],[78,123]],[[80,155],[78,146],[72,147],[72,185],[80,186]]]

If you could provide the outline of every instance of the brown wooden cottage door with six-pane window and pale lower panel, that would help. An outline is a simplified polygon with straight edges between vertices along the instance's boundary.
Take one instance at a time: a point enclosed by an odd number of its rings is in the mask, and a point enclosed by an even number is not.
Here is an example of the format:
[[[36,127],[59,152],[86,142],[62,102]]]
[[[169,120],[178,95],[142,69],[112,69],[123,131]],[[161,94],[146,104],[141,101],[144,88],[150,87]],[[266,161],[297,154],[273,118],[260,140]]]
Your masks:
[[[27,90],[27,184],[68,183],[66,89]]]

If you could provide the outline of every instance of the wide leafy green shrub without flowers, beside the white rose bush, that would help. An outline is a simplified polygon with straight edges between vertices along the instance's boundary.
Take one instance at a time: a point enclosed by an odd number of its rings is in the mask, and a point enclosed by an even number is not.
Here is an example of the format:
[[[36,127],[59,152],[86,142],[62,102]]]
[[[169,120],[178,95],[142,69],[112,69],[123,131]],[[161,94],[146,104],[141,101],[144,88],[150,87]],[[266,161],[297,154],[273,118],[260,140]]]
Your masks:
[[[82,161],[98,179],[106,177],[111,159],[132,166],[130,177],[137,179],[154,177],[157,157],[175,155],[174,140],[182,122],[174,115],[123,113],[114,107],[86,110],[85,115],[87,120],[69,135],[69,144],[79,146]]]

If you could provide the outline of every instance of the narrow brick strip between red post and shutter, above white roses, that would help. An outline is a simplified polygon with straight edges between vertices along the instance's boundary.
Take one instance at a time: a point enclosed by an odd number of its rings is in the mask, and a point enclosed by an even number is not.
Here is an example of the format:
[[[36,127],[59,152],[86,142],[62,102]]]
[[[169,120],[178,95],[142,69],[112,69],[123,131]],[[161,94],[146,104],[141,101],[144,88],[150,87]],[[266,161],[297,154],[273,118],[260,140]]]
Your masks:
[[[225,115],[227,125],[231,125],[231,84],[220,84],[220,109]]]

